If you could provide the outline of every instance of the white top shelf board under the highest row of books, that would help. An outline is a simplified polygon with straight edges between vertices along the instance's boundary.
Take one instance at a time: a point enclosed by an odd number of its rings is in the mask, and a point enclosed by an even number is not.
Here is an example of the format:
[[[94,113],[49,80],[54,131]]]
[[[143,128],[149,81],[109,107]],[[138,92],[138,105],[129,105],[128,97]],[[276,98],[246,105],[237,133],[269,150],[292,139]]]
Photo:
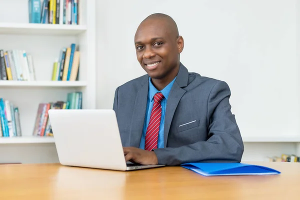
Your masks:
[[[77,35],[86,29],[86,25],[0,22],[0,34]]]

